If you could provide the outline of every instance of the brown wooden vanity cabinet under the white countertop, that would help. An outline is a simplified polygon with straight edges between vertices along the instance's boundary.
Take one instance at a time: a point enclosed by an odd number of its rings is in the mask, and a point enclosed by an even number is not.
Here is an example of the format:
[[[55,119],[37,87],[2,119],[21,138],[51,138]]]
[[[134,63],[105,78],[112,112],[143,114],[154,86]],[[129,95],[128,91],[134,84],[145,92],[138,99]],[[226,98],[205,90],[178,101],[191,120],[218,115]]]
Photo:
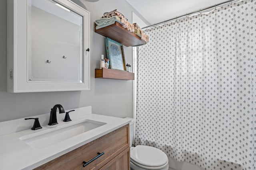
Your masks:
[[[130,170],[129,124],[72,150],[35,170]],[[98,155],[104,154],[83,167]]]

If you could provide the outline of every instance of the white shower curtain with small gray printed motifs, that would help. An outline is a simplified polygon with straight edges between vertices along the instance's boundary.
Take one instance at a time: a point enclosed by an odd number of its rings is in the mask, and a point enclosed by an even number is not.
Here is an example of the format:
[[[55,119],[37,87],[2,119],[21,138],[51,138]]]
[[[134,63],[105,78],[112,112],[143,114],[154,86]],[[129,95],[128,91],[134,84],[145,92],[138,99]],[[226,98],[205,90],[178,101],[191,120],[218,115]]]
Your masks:
[[[145,33],[135,145],[205,170],[255,170],[256,0]]]

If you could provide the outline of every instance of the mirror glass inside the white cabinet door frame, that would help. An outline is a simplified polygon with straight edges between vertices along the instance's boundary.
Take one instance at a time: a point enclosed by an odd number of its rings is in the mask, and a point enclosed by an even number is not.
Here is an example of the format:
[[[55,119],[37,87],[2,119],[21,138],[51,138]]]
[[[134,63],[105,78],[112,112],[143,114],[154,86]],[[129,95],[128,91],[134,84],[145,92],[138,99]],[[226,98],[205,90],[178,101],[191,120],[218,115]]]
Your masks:
[[[82,22],[53,0],[28,0],[28,82],[84,81]]]

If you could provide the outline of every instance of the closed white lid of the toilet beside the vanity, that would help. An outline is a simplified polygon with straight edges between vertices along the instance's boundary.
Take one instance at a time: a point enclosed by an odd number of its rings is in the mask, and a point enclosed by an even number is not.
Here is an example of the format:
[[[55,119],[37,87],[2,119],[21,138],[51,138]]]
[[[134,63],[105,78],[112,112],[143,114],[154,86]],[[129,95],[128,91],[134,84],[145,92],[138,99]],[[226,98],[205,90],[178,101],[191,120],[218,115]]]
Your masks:
[[[130,158],[133,162],[148,167],[159,167],[168,162],[168,158],[162,150],[143,145],[131,147]]]

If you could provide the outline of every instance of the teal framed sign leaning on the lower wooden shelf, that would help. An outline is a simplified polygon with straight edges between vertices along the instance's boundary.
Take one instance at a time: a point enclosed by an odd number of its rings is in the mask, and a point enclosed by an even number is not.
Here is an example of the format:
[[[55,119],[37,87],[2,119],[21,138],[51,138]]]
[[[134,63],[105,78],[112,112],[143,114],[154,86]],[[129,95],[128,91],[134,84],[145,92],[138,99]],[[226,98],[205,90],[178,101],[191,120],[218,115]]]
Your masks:
[[[105,43],[109,68],[126,71],[123,45],[108,37],[105,38]]]

